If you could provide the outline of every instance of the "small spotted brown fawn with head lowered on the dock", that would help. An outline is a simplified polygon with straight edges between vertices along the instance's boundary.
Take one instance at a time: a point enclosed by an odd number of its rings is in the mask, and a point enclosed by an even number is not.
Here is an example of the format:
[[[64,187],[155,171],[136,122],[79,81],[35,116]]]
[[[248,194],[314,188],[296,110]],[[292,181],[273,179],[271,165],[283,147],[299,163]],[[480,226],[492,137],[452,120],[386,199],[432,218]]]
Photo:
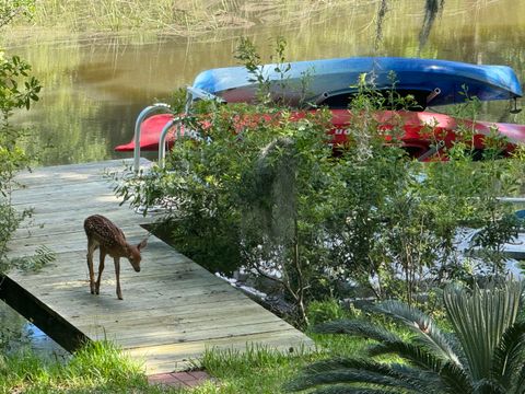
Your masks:
[[[115,260],[115,274],[117,276],[117,297],[122,299],[120,291],[120,257],[126,257],[133,269],[140,271],[140,251],[148,243],[148,239],[142,240],[138,245],[130,245],[126,241],[122,230],[115,225],[109,219],[102,215],[93,215],[84,220],[84,230],[88,235],[88,267],[90,269],[90,289],[92,294],[98,294],[101,288],[101,276],[104,270],[104,258],[109,255]],[[93,271],[93,253],[100,247],[101,260],[98,264],[98,277],[95,283],[95,274]]]

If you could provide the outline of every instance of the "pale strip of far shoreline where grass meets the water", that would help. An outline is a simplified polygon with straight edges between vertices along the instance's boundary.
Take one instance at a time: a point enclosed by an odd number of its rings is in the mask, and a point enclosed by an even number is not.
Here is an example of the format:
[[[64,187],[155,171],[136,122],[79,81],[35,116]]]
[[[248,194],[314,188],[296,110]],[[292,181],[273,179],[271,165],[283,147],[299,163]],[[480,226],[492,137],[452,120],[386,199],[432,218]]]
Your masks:
[[[337,16],[338,10],[342,7],[355,7],[359,0],[335,0],[330,2],[312,0],[306,8],[302,0],[289,0],[282,3],[278,0],[269,0],[264,4],[245,4],[244,10],[218,11],[217,14],[209,15],[208,20],[201,16],[196,23],[183,25],[174,21],[172,24],[159,21],[153,26],[154,21],[147,20],[142,24],[132,24],[129,20],[121,16],[122,22],[118,27],[112,27],[100,23],[94,26],[95,21],[90,24],[74,24],[63,15],[63,23],[59,25],[39,24],[36,16],[33,23],[15,23],[5,28],[0,38],[0,47],[12,49],[27,45],[40,45],[43,43],[69,43],[69,42],[95,42],[103,39],[126,39],[140,43],[159,42],[163,39],[192,39],[197,42],[220,42],[232,39],[241,35],[257,34],[261,30],[294,30],[300,25],[307,23],[319,23],[329,19],[330,15]],[[371,8],[376,3],[361,4],[358,7]],[[248,10],[247,7],[250,7]],[[73,10],[70,12],[74,15]],[[198,10],[197,10],[198,11]],[[196,11],[196,12],[197,12]],[[201,12],[201,11],[199,11]],[[96,19],[96,16],[94,16]],[[60,19],[60,16],[54,16]],[[127,23],[124,23],[127,22]],[[192,26],[189,27],[188,26]]]

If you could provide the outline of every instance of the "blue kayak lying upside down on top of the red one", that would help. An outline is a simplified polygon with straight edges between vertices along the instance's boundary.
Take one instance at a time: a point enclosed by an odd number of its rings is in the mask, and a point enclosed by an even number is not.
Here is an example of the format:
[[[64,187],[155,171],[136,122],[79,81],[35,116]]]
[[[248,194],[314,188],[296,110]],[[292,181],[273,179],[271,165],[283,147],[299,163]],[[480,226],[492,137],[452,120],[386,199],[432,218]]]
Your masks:
[[[458,61],[396,58],[357,57],[296,61],[282,65],[259,66],[260,74],[268,81],[272,99],[292,106],[304,103],[347,107],[365,74],[366,82],[376,91],[395,91],[411,94],[420,109],[429,105],[447,105],[465,102],[467,96],[481,101],[516,99],[523,95],[513,69],[506,66],[470,65]],[[225,102],[254,102],[257,82],[244,67],[226,67],[203,71],[197,76],[196,90],[219,96]],[[466,93],[466,94],[465,94]]]

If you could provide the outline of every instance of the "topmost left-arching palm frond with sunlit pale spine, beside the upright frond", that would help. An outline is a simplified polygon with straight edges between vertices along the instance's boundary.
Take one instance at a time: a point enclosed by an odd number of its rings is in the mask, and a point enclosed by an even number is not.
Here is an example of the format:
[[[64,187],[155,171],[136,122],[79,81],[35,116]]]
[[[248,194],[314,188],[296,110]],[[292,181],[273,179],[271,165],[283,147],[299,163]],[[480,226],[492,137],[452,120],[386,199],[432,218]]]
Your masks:
[[[393,317],[402,323],[416,334],[415,340],[429,349],[436,357],[451,360],[460,366],[460,360],[455,354],[453,345],[447,336],[436,326],[428,314],[406,303],[387,300],[372,308],[372,310]]]

